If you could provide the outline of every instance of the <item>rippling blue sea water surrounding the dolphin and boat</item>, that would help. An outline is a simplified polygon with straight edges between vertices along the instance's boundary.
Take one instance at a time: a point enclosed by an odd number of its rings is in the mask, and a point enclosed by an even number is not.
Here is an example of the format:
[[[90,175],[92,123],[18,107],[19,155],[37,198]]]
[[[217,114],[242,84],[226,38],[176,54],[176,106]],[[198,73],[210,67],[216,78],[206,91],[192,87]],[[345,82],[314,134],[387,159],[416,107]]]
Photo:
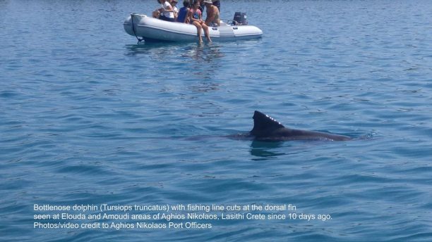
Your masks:
[[[0,241],[432,241],[432,1],[223,0],[263,38],[137,45],[124,19],[155,8],[0,0]],[[354,139],[228,139],[254,110]],[[35,204],[103,203],[331,219],[34,228]]]

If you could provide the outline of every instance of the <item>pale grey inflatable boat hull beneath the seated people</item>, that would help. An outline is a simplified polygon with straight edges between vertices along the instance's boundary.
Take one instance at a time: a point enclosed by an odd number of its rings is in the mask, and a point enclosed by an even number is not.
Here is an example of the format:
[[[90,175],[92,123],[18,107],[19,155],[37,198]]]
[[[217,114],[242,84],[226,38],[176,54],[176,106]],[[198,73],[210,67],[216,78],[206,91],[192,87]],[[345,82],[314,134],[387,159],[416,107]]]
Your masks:
[[[147,15],[132,13],[124,20],[124,30],[138,39],[138,42],[197,42],[197,30],[194,25],[172,23]],[[232,41],[253,39],[263,35],[258,27],[252,25],[228,25],[209,27],[212,41]],[[203,32],[204,37],[204,32]],[[203,38],[205,39],[205,38]]]

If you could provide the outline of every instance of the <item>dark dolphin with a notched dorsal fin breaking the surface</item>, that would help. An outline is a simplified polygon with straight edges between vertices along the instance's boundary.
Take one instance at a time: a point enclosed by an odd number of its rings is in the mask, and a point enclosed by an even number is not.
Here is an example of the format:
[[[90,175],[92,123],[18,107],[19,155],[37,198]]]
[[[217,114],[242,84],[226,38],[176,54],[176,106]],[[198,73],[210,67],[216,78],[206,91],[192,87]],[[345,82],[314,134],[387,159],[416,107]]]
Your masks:
[[[348,141],[351,138],[340,134],[329,134],[316,131],[289,129],[269,115],[259,111],[253,113],[253,129],[249,132],[253,139],[259,141],[322,140]]]

